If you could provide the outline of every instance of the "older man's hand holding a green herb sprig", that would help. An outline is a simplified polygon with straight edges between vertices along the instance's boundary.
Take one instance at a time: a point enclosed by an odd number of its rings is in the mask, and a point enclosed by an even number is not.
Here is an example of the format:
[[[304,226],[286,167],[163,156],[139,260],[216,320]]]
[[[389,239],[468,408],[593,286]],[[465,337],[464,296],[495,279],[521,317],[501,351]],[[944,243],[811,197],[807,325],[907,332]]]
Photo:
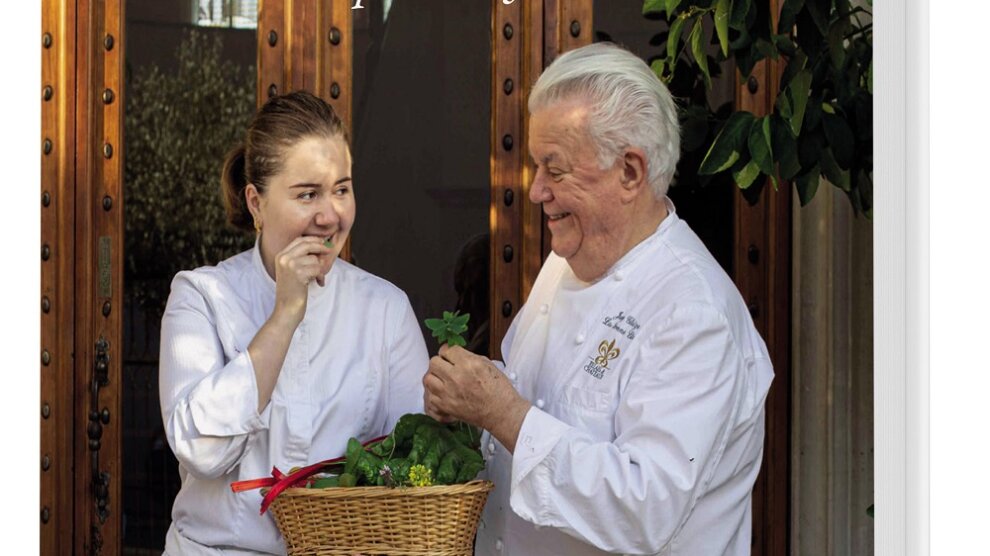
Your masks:
[[[488,358],[445,344],[430,359],[423,387],[427,415],[481,427],[514,450],[530,404]]]

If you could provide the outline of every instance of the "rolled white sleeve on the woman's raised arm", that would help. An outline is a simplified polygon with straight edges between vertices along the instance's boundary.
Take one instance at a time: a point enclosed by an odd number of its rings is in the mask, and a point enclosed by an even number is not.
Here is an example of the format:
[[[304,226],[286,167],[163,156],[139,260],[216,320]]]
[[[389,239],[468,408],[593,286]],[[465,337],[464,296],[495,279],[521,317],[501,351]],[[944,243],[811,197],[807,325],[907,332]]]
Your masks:
[[[162,317],[162,420],[176,458],[204,479],[229,472],[243,458],[248,435],[267,427],[251,358],[245,349],[226,360],[217,318],[192,280],[177,275]]]

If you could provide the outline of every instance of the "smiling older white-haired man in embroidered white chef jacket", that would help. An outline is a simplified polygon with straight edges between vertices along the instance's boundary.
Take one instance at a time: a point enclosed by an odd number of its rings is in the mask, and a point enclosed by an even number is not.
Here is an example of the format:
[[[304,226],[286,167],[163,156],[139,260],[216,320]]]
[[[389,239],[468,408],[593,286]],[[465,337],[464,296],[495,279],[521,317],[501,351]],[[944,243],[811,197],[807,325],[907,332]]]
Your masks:
[[[750,553],[773,377],[732,281],[667,187],[667,88],[626,50],[560,56],[529,98],[553,253],[502,343],[442,347],[427,412],[485,429],[477,554]]]

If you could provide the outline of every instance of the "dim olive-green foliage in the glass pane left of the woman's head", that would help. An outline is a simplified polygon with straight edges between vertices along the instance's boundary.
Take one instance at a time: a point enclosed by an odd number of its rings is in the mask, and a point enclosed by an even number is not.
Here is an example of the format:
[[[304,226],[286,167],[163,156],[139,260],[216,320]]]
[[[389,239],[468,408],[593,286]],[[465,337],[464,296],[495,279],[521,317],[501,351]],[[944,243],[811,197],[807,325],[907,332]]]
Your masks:
[[[254,114],[254,69],[221,59],[218,35],[190,31],[174,71],[128,72],[124,137],[128,302],[161,316],[176,272],[253,245],[226,225],[224,156]]]

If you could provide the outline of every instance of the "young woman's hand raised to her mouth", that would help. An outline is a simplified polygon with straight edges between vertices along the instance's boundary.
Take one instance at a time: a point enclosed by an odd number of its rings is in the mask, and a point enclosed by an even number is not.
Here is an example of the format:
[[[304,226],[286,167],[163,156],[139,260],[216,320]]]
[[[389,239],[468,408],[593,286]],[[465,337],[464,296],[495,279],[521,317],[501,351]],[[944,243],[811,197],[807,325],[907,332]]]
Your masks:
[[[296,325],[302,322],[309,283],[324,285],[335,255],[321,238],[311,236],[297,237],[275,255],[275,313]]]

